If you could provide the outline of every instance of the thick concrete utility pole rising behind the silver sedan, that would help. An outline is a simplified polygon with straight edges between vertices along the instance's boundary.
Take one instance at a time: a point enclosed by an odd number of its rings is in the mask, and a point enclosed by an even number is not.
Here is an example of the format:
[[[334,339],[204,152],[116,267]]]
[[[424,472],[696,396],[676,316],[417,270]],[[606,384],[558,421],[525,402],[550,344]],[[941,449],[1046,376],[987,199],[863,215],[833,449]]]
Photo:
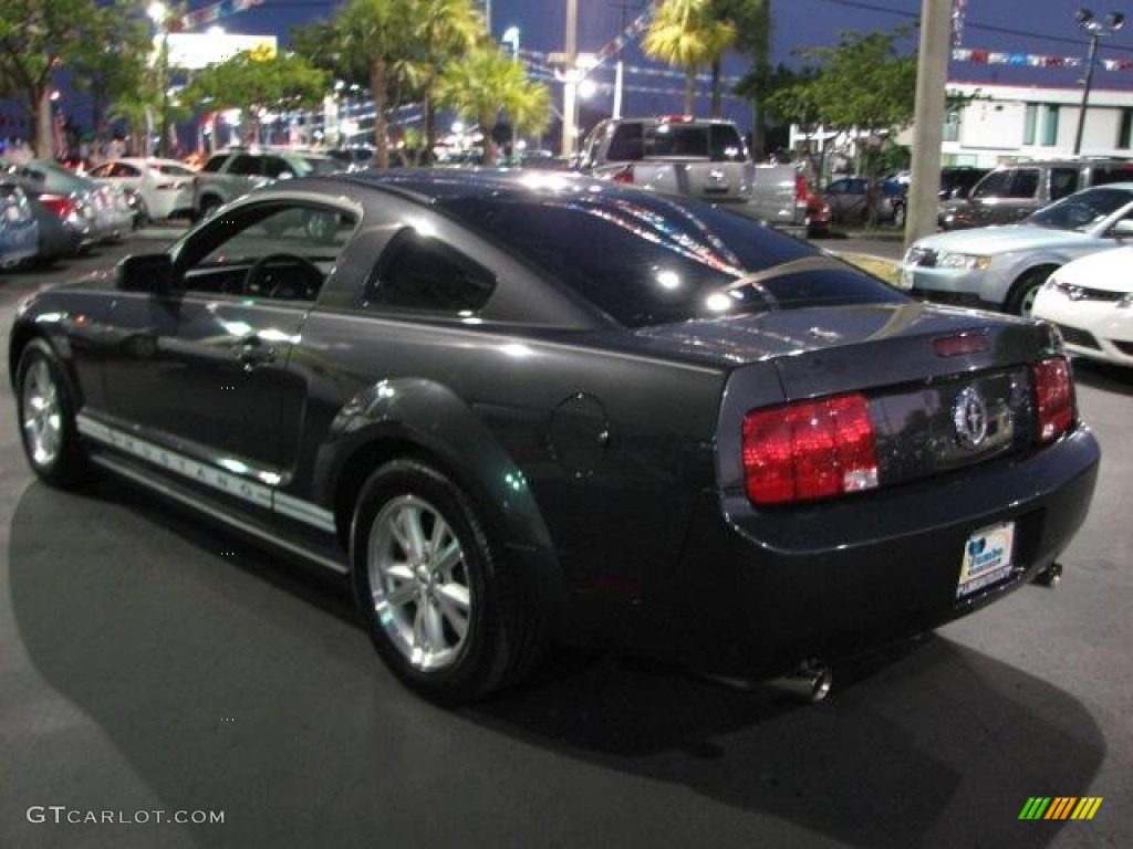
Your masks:
[[[952,0],[921,0],[917,106],[913,113],[913,179],[909,187],[905,247],[922,235],[936,232],[951,46]]]

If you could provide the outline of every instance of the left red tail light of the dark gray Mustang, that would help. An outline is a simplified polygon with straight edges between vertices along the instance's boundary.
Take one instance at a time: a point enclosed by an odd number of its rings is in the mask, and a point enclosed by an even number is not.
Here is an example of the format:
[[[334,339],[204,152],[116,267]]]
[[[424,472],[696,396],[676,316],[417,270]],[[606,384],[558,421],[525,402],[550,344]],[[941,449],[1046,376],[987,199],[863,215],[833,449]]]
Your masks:
[[[743,479],[753,504],[790,504],[877,487],[869,403],[842,395],[743,420]]]

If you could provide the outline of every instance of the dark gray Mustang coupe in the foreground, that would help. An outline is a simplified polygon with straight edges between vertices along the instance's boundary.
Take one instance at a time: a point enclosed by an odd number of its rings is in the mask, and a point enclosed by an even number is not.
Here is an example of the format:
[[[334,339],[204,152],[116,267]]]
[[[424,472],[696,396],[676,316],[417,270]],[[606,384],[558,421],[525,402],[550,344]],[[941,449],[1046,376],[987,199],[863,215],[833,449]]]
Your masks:
[[[554,173],[279,182],[42,291],[27,458],[349,575],[440,701],[552,641],[755,677],[1056,567],[1099,452],[1049,326],[730,212]]]

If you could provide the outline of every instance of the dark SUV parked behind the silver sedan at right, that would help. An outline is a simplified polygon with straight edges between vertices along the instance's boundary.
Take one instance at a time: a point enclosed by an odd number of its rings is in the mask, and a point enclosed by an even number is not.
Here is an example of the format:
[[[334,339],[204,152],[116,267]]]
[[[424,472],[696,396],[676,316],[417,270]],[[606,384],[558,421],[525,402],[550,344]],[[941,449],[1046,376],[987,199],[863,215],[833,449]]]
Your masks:
[[[1036,209],[1093,186],[1133,180],[1126,160],[1051,160],[1000,165],[976,183],[966,200],[946,204],[944,230],[1012,224]]]

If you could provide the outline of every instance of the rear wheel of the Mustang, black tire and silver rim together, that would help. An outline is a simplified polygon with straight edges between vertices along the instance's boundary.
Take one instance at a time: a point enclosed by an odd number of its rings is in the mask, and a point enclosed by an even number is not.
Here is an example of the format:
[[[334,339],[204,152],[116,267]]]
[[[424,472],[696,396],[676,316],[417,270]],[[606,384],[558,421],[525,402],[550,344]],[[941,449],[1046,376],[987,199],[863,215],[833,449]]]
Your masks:
[[[518,683],[543,653],[519,576],[471,500],[431,465],[398,460],[370,475],[355,508],[350,561],[378,654],[428,698],[483,698]]]

